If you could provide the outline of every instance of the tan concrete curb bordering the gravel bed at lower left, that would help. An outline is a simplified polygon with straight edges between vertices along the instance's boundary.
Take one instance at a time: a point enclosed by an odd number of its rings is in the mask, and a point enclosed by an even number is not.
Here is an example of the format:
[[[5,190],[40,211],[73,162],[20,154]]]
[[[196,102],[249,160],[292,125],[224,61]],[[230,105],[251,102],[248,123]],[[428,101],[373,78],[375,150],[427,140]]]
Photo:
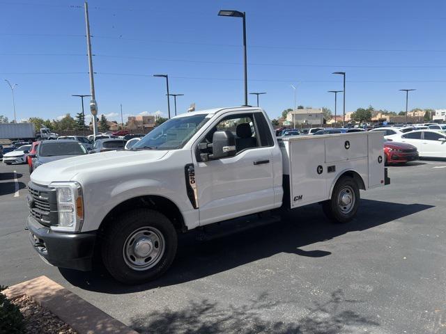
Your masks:
[[[47,276],[13,285],[2,293],[9,299],[31,297],[79,334],[138,334]]]

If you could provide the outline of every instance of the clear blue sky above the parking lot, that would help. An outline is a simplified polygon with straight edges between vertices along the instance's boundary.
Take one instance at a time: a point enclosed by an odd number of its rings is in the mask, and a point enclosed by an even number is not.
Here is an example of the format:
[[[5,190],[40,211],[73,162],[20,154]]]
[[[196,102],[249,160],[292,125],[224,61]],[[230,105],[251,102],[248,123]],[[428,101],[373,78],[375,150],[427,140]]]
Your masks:
[[[73,116],[89,94],[83,2],[0,0],[0,115]],[[405,108],[401,88],[416,88],[410,107],[445,108],[446,2],[314,1],[89,1],[93,66],[100,113],[167,114],[169,74],[178,112],[243,104],[242,21],[220,9],[247,13],[248,89],[267,92],[271,118],[298,104],[328,106],[347,72],[346,109]],[[117,75],[120,74],[120,75]],[[341,110],[341,95],[338,111]],[[249,102],[256,104],[255,97]],[[173,101],[171,102],[173,111]],[[87,105],[87,104],[86,104]]]

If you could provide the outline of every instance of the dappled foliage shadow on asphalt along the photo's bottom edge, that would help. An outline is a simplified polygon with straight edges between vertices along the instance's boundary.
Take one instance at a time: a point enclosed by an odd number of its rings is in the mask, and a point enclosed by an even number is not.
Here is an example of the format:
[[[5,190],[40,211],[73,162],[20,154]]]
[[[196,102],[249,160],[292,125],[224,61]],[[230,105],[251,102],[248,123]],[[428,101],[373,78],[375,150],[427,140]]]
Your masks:
[[[132,317],[130,327],[139,333],[373,333],[378,322],[359,315],[352,308],[361,301],[344,298],[341,289],[333,292],[325,302],[313,302],[291,321],[273,321],[277,310],[302,301],[274,301],[263,293],[245,305],[220,305],[217,301],[189,301],[180,310],[155,310]],[[273,316],[272,316],[273,315]],[[275,315],[275,316],[274,316]],[[290,317],[290,316],[289,316]],[[268,319],[269,318],[269,319]]]

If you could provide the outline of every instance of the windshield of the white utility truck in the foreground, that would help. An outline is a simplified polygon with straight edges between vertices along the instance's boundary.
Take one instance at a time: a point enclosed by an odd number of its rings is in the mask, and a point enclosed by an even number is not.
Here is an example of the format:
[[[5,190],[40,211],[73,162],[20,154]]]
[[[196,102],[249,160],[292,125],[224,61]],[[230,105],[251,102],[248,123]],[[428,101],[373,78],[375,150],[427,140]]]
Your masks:
[[[206,124],[206,114],[171,118],[155,127],[130,150],[176,150],[182,148]]]

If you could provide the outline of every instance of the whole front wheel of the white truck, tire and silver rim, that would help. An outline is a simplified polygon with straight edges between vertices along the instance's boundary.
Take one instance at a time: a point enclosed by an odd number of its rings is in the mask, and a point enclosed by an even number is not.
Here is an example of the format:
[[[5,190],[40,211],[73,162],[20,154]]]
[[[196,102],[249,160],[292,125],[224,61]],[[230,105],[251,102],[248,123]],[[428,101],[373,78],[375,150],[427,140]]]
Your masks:
[[[116,218],[105,230],[102,261],[116,280],[146,283],[169,269],[176,247],[176,230],[164,214],[136,209]]]

